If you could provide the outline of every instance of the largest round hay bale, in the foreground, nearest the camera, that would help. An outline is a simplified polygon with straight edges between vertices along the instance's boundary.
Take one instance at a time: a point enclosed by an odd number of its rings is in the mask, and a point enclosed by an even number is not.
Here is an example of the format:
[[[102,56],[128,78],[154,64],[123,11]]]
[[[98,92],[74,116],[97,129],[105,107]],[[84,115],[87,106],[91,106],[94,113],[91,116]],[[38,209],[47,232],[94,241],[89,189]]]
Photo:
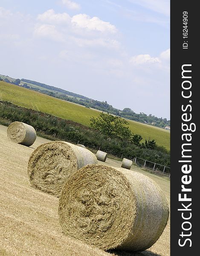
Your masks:
[[[104,250],[151,247],[168,221],[165,195],[138,172],[88,165],[64,184],[59,222],[64,233]]]

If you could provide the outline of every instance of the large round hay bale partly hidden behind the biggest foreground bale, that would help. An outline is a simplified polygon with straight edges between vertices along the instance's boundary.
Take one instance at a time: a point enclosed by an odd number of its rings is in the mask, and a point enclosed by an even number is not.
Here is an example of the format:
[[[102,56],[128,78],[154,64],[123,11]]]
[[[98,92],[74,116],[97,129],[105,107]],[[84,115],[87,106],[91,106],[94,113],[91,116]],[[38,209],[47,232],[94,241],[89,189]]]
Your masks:
[[[64,141],[40,145],[28,163],[28,176],[33,187],[58,196],[64,180],[77,169],[97,163],[96,156],[86,148]]]

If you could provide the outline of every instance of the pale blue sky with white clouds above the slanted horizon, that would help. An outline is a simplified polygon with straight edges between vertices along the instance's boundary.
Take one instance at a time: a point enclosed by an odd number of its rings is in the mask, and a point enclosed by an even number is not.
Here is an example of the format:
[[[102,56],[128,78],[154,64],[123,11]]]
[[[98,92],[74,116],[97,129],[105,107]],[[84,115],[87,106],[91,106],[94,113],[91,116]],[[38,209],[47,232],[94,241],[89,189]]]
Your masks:
[[[168,0],[0,0],[0,73],[170,119]]]

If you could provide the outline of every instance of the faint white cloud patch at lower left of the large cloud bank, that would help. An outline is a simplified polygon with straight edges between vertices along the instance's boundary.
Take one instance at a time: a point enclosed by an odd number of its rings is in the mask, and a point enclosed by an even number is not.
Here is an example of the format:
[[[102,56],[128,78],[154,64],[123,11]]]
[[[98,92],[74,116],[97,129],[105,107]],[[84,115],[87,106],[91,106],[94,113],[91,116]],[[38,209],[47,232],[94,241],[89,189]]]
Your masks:
[[[56,30],[54,25],[36,25],[34,35],[37,37],[49,38],[53,41],[64,42],[64,36]]]

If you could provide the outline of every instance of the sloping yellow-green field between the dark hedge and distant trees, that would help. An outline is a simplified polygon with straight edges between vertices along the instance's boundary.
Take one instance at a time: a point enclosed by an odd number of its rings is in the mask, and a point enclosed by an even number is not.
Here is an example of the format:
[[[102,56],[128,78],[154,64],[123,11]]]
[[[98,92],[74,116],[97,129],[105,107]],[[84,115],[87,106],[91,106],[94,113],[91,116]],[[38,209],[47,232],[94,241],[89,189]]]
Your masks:
[[[12,102],[23,108],[31,108],[41,112],[59,116],[90,126],[90,117],[99,116],[100,111],[85,108],[84,106],[67,102],[61,99],[38,93],[23,87],[0,81],[0,99]],[[158,145],[170,149],[170,132],[151,125],[129,122],[130,130],[135,134],[141,134],[143,139],[154,139]]]

